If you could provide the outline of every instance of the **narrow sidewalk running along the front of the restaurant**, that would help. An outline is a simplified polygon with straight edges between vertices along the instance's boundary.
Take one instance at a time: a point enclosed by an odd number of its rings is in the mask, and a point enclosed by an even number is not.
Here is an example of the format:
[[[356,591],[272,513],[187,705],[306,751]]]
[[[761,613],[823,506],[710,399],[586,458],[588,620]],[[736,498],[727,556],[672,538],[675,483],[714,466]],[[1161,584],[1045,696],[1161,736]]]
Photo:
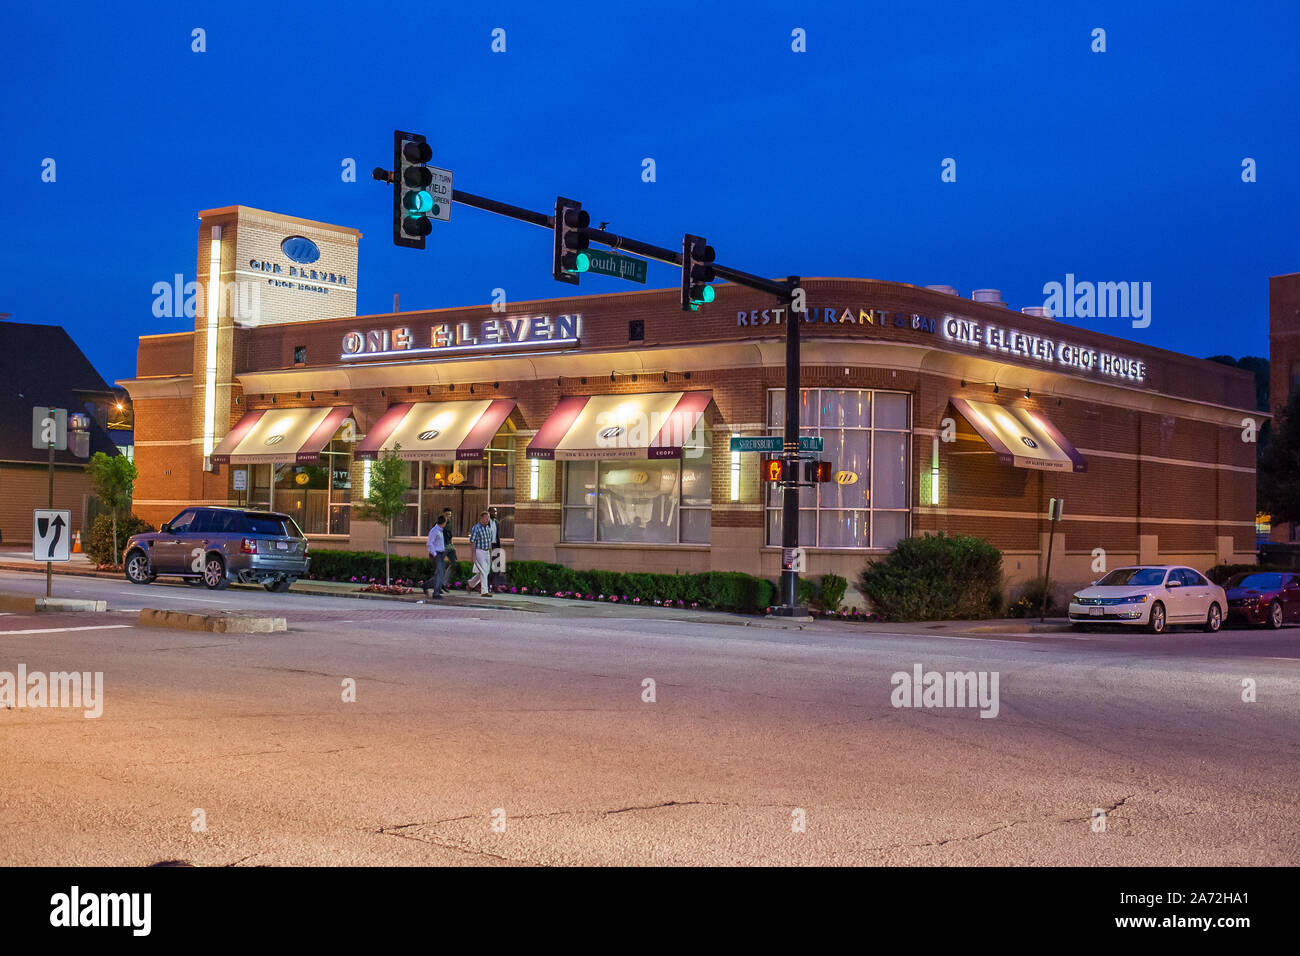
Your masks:
[[[32,561],[31,551],[0,551],[0,570],[26,571],[43,574],[46,563]],[[108,578],[121,579],[120,571],[96,571],[84,554],[72,555],[72,561],[55,564],[55,574],[74,575],[79,578]],[[237,588],[256,588],[254,584],[237,584]],[[351,581],[316,581],[298,580],[294,583],[295,594],[320,594],[322,597],[350,597],[369,601],[398,601],[408,605],[439,602],[426,601],[424,593],[416,588],[410,594],[380,594],[365,592],[365,585]],[[577,613],[585,618],[628,618],[632,613],[637,617],[671,618],[693,623],[734,624],[740,627],[772,627],[783,630],[800,630],[807,627],[836,627],[845,633],[941,633],[941,635],[1006,635],[1027,636],[1031,633],[1067,633],[1070,624],[1065,618],[1049,618],[1045,623],[1028,618],[1005,618],[998,620],[923,620],[923,622],[852,622],[836,620],[833,618],[814,618],[811,622],[790,622],[783,618],[763,617],[757,614],[734,614],[731,611],[712,611],[699,607],[663,607],[654,604],[625,604],[612,601],[573,601],[563,597],[542,597],[540,594],[512,594],[510,592],[494,592],[491,597],[480,597],[478,593],[467,594],[464,591],[443,591],[441,606],[450,607],[476,607],[498,609],[512,611],[530,611],[533,614],[559,614]]]

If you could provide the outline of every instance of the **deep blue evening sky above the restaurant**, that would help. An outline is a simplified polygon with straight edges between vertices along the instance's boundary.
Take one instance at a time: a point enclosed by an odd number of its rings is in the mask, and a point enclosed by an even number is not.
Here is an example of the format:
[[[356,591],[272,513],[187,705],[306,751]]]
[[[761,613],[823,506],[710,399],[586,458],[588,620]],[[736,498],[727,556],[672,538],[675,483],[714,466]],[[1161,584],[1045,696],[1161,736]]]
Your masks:
[[[194,277],[195,213],[234,203],[360,229],[363,313],[394,291],[404,310],[567,294],[545,230],[476,209],[424,252],[393,246],[369,170],[403,127],[460,189],[573,196],[750,272],[997,287],[1014,308],[1066,273],[1150,282],[1149,328],[1074,321],[1262,355],[1268,278],[1300,271],[1297,26],[1294,3],[6,4],[0,312],[131,376],[136,336],[192,328],[155,319],[151,289]],[[676,282],[651,264],[651,286]]]

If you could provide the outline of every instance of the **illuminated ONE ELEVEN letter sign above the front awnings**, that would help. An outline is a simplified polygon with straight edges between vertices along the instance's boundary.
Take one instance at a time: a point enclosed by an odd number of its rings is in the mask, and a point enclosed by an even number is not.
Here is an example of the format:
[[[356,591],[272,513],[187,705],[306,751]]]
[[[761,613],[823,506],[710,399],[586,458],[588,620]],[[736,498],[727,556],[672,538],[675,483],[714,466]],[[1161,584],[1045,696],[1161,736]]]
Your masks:
[[[395,355],[429,355],[464,349],[526,349],[528,346],[577,345],[582,316],[533,315],[437,323],[424,329],[398,325],[386,329],[348,332],[343,336],[342,359]]]

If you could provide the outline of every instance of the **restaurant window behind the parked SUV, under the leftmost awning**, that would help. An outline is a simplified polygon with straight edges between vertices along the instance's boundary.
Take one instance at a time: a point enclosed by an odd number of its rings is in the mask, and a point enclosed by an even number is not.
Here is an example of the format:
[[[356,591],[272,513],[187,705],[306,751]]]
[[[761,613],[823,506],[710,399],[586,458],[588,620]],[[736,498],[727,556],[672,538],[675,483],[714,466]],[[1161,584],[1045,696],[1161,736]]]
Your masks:
[[[352,444],[341,436],[342,429],[315,463],[239,466],[248,470],[248,505],[292,516],[307,535],[347,535]]]

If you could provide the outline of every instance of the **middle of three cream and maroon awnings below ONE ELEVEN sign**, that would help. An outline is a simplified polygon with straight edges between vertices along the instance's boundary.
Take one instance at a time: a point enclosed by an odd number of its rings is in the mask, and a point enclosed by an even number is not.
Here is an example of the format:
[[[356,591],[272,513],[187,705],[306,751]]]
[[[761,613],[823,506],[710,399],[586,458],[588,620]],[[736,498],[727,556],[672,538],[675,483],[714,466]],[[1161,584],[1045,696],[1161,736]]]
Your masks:
[[[373,459],[396,449],[398,458],[411,462],[482,458],[514,410],[506,398],[394,405],[358,444],[355,455]]]

